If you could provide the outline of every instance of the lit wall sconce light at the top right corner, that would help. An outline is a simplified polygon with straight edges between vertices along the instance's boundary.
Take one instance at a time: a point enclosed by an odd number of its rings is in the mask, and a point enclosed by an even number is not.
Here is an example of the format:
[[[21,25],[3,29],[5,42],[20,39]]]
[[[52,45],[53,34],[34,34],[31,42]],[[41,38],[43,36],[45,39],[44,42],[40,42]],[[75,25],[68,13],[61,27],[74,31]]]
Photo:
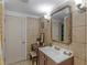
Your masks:
[[[75,4],[78,9],[78,12],[83,13],[86,11],[86,6],[83,0],[75,0]]]

